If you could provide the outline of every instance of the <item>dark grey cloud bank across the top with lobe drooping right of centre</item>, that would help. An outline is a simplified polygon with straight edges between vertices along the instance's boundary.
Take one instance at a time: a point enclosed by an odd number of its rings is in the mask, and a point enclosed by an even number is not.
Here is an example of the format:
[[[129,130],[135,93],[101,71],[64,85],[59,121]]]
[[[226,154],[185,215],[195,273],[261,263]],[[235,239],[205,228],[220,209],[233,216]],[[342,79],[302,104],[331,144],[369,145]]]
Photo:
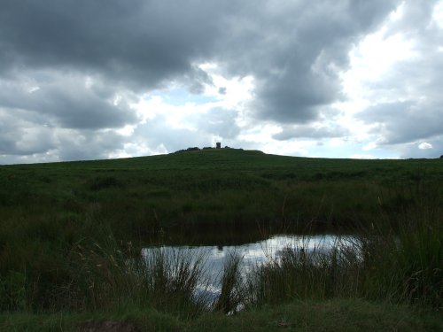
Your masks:
[[[180,75],[200,81],[193,64],[217,58],[258,78],[263,116],[304,120],[337,96],[329,66],[346,65],[352,42],[393,3],[5,0],[1,63],[74,67],[145,89]]]

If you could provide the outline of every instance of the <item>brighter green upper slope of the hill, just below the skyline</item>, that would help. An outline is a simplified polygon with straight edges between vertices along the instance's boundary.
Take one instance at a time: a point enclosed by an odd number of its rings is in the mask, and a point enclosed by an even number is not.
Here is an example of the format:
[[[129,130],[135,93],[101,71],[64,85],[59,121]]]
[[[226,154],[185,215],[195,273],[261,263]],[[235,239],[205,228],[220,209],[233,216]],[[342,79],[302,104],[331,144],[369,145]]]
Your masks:
[[[0,170],[245,171],[264,177],[303,181],[346,178],[414,180],[443,176],[439,159],[303,158],[243,149],[202,149],[164,155],[0,166]]]

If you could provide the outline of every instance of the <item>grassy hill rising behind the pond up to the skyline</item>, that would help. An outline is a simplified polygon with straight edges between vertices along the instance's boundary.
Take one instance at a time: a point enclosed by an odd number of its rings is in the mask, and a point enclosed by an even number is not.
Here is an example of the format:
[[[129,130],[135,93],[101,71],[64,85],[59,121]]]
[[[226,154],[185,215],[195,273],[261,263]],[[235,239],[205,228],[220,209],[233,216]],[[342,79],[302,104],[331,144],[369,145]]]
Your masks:
[[[297,158],[235,149],[0,166],[0,207],[73,218],[95,206],[121,233],[191,224],[349,225],[418,197],[441,203],[440,159]],[[96,212],[95,212],[96,213]]]

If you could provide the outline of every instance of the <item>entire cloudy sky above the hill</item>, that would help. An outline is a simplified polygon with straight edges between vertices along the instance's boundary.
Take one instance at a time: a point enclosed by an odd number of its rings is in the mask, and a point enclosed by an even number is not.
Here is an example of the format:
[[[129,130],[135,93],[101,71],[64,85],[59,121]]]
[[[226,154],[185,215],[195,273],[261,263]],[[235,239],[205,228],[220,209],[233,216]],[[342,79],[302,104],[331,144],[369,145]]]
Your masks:
[[[0,0],[0,164],[443,155],[443,0]]]

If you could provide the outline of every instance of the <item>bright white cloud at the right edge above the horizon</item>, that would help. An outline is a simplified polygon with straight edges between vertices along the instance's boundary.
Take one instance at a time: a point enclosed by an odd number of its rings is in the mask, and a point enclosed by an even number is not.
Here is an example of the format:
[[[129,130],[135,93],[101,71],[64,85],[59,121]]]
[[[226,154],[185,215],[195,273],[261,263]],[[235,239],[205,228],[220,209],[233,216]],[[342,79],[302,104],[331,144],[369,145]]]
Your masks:
[[[402,35],[410,56],[401,58],[382,76],[367,81],[370,104],[356,114],[371,127],[377,145],[391,147],[405,157],[430,157],[423,143],[438,147],[443,135],[443,57],[439,47],[443,30],[433,19],[434,1],[404,2],[385,27],[384,38]],[[421,148],[419,148],[421,146]],[[424,154],[425,153],[425,154]]]

